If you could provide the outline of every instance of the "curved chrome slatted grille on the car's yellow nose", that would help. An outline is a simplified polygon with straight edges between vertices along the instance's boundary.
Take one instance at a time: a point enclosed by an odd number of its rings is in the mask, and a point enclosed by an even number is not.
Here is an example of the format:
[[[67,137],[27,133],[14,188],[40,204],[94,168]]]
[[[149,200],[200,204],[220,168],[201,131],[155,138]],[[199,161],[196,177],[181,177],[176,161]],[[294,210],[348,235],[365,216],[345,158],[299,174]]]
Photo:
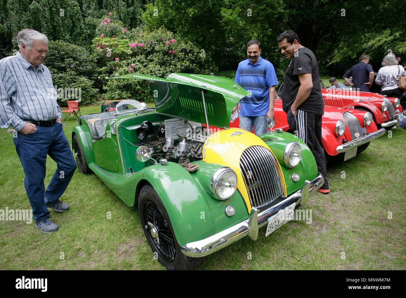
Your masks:
[[[260,207],[284,194],[278,162],[261,146],[251,146],[242,152],[240,169],[252,206]]]

